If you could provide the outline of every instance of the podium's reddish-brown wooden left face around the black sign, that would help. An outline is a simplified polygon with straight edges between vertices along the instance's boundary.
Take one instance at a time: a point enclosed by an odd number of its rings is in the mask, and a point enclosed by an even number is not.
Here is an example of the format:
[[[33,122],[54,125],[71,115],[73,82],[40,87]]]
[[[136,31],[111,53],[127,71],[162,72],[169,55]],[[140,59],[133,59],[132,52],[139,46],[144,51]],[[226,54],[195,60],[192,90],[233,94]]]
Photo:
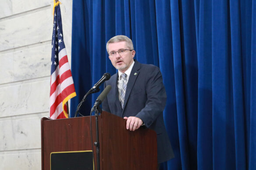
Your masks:
[[[100,121],[100,117],[99,117]],[[100,128],[99,123],[99,128]],[[92,136],[96,141],[95,117],[92,116]],[[99,134],[101,139],[101,133]],[[50,154],[92,150],[90,117],[41,120],[42,170],[50,170]],[[96,152],[96,147],[93,146]],[[94,154],[96,160],[96,154]]]

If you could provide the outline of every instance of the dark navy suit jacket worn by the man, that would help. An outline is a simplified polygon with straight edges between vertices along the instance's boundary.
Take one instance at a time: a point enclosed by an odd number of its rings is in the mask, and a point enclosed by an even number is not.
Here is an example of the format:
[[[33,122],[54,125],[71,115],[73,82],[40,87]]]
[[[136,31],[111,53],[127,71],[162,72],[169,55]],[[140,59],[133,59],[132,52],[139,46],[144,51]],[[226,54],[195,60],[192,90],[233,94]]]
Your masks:
[[[118,73],[104,84],[105,87],[111,85],[112,88],[103,101],[103,110],[122,118],[140,118],[147,128],[156,131],[158,163],[173,158],[174,153],[164,126],[163,111],[167,97],[160,69],[135,60],[127,83],[123,109],[119,101],[117,80]]]

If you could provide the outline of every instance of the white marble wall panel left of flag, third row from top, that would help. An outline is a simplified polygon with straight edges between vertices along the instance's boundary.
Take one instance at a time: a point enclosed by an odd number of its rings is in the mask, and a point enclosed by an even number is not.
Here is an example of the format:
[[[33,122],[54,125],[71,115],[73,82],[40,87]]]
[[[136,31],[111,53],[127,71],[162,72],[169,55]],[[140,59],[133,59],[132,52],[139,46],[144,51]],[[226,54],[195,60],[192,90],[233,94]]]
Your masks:
[[[0,55],[0,84],[50,76],[51,45]]]

